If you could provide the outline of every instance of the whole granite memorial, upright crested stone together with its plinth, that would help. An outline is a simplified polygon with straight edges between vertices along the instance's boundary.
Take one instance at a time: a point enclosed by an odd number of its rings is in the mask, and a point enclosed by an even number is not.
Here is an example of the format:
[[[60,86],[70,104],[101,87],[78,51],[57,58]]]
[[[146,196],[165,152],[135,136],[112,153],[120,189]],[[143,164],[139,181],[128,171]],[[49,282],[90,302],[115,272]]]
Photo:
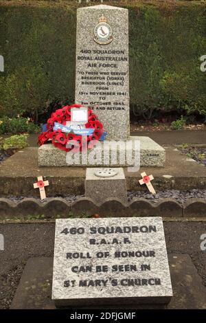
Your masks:
[[[165,166],[164,148],[149,137],[130,136],[127,9],[95,5],[77,10],[76,103],[91,107],[104,126],[107,134],[98,148],[102,157],[91,164],[85,158],[82,162],[81,155],[73,165],[67,162],[65,151],[45,144],[38,149],[39,166],[135,166],[135,171],[139,166]],[[111,154],[118,142],[118,155],[132,142],[133,164],[119,159],[105,162],[104,155],[108,150]]]

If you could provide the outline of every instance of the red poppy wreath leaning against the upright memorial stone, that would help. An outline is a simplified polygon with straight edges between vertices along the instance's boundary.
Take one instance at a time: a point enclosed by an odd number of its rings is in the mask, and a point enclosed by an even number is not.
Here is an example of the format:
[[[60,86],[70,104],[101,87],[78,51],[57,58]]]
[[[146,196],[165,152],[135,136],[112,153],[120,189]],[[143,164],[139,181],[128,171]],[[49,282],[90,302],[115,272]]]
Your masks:
[[[88,122],[84,124],[85,129],[93,129],[90,135],[82,136],[73,133],[73,131],[70,133],[62,131],[63,126],[66,126],[67,122],[71,121],[71,108],[80,107],[82,107],[80,104],[66,105],[52,113],[51,118],[47,120],[44,127],[45,131],[38,136],[39,146],[45,144],[45,142],[52,141],[55,147],[63,151],[83,151],[86,147],[92,148],[95,140],[102,140],[105,135],[102,123],[90,108],[87,109]],[[56,124],[60,124],[60,128],[56,129]]]

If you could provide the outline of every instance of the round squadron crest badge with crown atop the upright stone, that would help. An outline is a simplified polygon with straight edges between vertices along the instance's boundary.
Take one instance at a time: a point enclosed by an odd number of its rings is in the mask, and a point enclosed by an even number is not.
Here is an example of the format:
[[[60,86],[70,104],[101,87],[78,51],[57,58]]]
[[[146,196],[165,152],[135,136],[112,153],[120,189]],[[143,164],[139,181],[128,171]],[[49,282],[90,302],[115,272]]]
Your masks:
[[[102,14],[102,16],[99,18],[98,25],[96,25],[94,29],[94,41],[100,45],[106,45],[113,41],[113,30],[111,29],[111,26],[106,23],[106,21],[105,16]]]

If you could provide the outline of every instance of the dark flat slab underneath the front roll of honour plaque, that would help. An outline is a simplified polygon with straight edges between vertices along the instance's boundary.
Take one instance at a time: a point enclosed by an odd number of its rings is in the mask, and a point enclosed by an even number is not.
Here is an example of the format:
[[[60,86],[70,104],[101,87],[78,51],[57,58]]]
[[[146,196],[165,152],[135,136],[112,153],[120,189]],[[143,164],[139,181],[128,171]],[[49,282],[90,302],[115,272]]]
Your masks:
[[[167,306],[121,305],[119,309],[206,309],[206,287],[203,286],[190,256],[169,254],[168,259],[174,294],[170,303]],[[52,267],[53,258],[30,258],[25,265],[10,309],[55,309],[52,301]],[[90,308],[118,309],[117,306]]]

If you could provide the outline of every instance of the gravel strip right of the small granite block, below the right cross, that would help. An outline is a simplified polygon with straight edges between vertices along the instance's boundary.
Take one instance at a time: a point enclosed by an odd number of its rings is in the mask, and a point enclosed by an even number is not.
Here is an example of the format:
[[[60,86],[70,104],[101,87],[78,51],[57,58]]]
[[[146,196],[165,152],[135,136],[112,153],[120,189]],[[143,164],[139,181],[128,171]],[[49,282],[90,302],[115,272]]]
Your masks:
[[[157,194],[152,195],[149,192],[128,192],[128,201],[132,201],[137,197],[142,197],[144,199],[148,199],[153,202],[158,202],[159,199],[167,199],[172,198],[175,199],[177,202],[183,204],[188,199],[196,198],[203,198],[206,200],[206,190],[199,190],[194,188],[194,190],[163,190],[157,192]]]

